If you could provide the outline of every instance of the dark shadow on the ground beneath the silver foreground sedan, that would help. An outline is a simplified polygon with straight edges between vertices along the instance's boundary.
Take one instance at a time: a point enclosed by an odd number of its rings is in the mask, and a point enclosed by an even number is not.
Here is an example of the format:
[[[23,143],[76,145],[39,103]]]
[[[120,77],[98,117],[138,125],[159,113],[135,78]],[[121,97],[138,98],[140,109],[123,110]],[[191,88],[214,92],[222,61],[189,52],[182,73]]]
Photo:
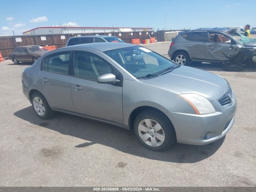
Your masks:
[[[32,106],[19,110],[15,112],[14,115],[34,125],[41,126],[42,128],[48,128],[64,135],[70,135],[85,140],[85,142],[78,143],[74,146],[77,148],[101,144],[124,153],[166,162],[195,163],[204,160],[212,156],[224,141],[224,138],[222,138],[204,146],[174,143],[169,150],[154,152],[144,148],[138,142],[133,132],[110,124],[104,124],[64,113],[56,113],[53,118],[42,120],[36,116]]]

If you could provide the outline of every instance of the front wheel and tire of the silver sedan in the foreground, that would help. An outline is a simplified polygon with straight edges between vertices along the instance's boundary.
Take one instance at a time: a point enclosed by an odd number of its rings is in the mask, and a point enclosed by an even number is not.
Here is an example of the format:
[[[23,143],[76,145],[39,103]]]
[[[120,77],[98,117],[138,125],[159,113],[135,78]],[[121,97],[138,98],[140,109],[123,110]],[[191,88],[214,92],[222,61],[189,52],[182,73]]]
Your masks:
[[[139,142],[154,151],[164,151],[175,141],[175,131],[170,120],[155,110],[145,110],[134,120],[134,133]]]

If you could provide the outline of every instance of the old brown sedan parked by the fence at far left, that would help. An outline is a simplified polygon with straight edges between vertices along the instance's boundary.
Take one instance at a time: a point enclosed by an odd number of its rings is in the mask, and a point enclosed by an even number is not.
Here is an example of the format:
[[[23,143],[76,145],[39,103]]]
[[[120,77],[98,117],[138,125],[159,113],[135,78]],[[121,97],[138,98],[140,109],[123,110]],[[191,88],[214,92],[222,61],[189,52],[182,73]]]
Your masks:
[[[48,50],[40,45],[18,46],[9,54],[9,59],[11,59],[14,64],[18,64],[19,62],[34,63],[35,60],[47,52]]]

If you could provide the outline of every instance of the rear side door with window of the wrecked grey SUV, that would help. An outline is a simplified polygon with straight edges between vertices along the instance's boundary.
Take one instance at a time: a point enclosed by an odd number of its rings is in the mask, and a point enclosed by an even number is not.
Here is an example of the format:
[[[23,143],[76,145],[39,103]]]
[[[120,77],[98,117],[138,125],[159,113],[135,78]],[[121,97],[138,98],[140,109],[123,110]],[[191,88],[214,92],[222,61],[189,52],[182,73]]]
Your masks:
[[[186,44],[191,60],[210,60],[207,51],[208,32],[193,32]]]

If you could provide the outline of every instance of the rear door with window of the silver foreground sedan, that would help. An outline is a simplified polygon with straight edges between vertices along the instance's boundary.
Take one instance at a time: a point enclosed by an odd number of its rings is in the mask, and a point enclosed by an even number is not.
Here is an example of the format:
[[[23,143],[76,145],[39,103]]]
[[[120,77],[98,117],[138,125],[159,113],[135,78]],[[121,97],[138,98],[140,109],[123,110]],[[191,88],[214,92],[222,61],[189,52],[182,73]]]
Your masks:
[[[70,55],[71,52],[59,52],[44,58],[43,69],[39,73],[39,84],[50,107],[73,112]]]

